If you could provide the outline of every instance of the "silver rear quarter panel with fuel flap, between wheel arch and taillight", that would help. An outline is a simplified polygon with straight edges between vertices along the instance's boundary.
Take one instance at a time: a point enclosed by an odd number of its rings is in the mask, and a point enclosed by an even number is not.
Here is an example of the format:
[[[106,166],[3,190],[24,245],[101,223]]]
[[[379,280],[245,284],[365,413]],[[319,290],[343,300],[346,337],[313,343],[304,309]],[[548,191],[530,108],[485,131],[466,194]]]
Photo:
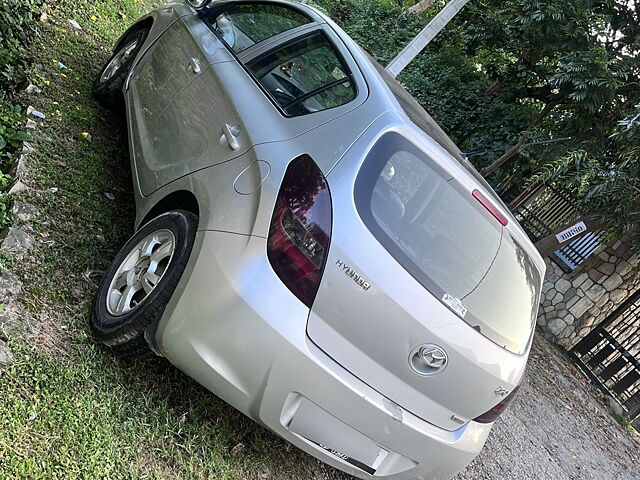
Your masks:
[[[149,196],[141,195],[136,189],[136,226],[163,198],[185,190],[193,192],[198,200],[201,230],[266,237],[280,182],[289,162],[307,154],[327,174],[375,121],[377,108],[367,102],[312,132],[290,140],[256,145],[233,161],[185,175]],[[332,141],[325,141],[326,138]],[[236,181],[248,183],[246,188],[251,193],[238,193],[234,188]]]

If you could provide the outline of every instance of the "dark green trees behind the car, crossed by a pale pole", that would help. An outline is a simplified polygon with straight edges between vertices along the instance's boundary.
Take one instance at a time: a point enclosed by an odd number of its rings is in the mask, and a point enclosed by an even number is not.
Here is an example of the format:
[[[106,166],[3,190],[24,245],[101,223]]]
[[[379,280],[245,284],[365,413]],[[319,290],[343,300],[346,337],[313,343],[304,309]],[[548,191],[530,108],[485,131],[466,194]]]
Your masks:
[[[435,2],[321,0],[386,64]],[[640,103],[638,0],[472,0],[399,80],[499,191],[524,188],[571,152],[611,156],[609,136]]]

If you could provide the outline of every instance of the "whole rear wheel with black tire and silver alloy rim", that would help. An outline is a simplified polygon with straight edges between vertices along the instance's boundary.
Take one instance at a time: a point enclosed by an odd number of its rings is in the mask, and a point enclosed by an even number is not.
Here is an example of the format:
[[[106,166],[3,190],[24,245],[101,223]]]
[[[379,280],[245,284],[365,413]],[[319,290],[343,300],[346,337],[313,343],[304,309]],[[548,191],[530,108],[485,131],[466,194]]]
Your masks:
[[[193,213],[167,212],[145,224],[122,247],[92,307],[91,328],[100,342],[125,356],[149,351],[145,334],[150,326],[155,329],[178,286],[197,228]]]

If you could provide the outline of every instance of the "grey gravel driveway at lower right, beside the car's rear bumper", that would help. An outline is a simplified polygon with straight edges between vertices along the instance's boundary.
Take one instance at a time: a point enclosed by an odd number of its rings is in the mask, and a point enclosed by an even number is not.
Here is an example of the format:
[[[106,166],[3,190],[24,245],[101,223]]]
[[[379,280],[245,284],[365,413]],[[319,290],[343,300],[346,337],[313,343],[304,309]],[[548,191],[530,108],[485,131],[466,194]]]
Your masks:
[[[538,335],[528,381],[456,480],[640,479],[640,438],[620,426],[580,372]]]

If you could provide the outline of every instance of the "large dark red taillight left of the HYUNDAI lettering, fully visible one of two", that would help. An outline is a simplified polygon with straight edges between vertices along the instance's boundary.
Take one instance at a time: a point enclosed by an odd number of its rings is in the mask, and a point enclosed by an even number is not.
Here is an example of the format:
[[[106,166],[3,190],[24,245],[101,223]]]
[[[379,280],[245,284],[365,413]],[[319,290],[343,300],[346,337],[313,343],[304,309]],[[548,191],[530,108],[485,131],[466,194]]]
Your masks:
[[[267,256],[280,280],[311,308],[331,240],[331,195],[307,155],[289,164],[271,219]]]

